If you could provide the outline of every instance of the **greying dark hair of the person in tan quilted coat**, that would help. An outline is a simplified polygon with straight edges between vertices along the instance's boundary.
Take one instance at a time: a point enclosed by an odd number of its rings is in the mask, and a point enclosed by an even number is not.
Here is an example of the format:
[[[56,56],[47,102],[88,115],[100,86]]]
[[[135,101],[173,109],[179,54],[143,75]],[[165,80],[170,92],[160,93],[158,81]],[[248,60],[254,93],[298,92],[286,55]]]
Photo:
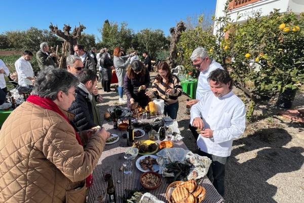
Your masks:
[[[38,73],[31,94],[55,100],[59,91],[68,94],[68,90],[77,85],[79,80],[73,74],[64,69],[49,68]]]

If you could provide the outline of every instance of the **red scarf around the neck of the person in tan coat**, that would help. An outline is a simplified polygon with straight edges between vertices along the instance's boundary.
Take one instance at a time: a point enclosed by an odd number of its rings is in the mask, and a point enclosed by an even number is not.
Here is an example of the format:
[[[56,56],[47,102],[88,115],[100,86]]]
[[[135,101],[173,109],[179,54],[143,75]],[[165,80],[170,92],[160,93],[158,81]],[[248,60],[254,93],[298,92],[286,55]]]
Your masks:
[[[59,107],[51,99],[49,99],[49,98],[42,98],[42,97],[36,96],[36,95],[30,95],[26,99],[26,101],[29,101],[30,103],[32,103],[34,105],[37,105],[37,106],[40,106],[42,108],[45,108],[45,109],[48,109],[48,110],[56,112],[61,117],[63,117],[66,120],[66,122],[70,125],[70,121],[68,120],[68,118],[62,113],[62,111],[59,109]],[[82,142],[80,140],[79,134],[78,134],[78,132],[76,130],[75,130],[75,137],[76,137],[78,143],[83,146],[83,144],[82,144]],[[92,185],[92,183],[93,183],[93,179],[92,178],[93,178],[92,174],[90,174],[88,176],[88,178],[86,178],[87,187],[90,187]]]

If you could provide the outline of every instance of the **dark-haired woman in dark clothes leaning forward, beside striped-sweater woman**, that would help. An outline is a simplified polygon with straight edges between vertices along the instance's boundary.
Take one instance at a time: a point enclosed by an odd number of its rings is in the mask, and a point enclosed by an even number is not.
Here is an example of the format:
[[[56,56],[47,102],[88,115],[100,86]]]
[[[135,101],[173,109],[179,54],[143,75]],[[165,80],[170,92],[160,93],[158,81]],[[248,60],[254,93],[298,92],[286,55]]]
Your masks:
[[[138,102],[141,107],[147,106],[149,97],[145,95],[145,89],[149,86],[150,74],[147,68],[139,60],[134,60],[128,66],[124,78],[124,90],[128,98],[128,107]]]

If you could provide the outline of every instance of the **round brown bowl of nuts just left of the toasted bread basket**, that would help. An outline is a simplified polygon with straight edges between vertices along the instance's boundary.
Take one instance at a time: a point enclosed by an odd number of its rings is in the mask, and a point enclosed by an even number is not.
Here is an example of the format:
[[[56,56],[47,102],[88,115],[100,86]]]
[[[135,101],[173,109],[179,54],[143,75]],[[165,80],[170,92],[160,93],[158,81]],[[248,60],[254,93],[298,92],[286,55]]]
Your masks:
[[[154,190],[158,188],[162,183],[162,177],[155,172],[145,172],[140,176],[140,184],[148,190]]]

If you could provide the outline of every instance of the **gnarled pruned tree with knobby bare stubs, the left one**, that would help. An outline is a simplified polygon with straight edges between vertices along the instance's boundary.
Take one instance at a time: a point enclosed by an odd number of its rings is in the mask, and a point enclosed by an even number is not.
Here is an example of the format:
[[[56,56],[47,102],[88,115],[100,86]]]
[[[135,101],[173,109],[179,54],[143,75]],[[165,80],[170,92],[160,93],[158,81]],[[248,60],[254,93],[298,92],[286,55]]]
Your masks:
[[[81,32],[86,29],[86,27],[80,23],[79,27],[75,26],[72,33],[70,33],[71,26],[66,24],[64,24],[63,26],[63,31],[58,29],[57,25],[54,26],[52,22],[49,27],[53,33],[55,33],[58,37],[61,37],[69,43],[70,54],[74,54],[73,46],[77,44],[77,40],[81,37]]]

